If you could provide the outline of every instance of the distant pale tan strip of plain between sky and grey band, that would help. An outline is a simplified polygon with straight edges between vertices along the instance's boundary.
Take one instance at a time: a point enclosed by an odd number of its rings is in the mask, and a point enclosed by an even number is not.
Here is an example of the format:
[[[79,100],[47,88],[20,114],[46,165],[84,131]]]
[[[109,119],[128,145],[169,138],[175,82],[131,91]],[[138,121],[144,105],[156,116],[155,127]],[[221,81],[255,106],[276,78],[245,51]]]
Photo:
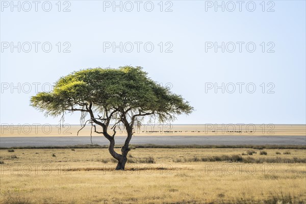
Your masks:
[[[111,127],[111,125],[110,125]],[[1,137],[40,137],[40,136],[77,136],[80,125],[66,124],[2,124]],[[79,136],[90,135],[90,125],[86,125]],[[126,136],[121,126],[116,136]],[[109,133],[113,133],[109,130]],[[305,136],[304,124],[146,124],[135,130],[135,136]],[[92,136],[101,136],[92,133]]]

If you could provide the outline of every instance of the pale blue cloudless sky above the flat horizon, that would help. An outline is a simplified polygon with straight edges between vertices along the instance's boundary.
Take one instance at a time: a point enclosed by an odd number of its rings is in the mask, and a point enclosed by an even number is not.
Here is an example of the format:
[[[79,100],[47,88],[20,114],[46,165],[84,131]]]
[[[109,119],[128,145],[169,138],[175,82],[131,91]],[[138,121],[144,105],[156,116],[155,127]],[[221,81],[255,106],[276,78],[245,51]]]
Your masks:
[[[305,1],[273,1],[274,6],[266,1],[265,12],[262,1],[254,1],[253,12],[246,9],[248,1],[241,12],[239,8],[233,12],[219,8],[215,12],[214,7],[206,12],[207,1],[171,1],[167,5],[164,1],[163,10],[172,3],[172,12],[160,12],[160,1],[152,1],[152,12],[144,10],[147,1],[140,5],[140,12],[134,1],[131,12],[124,8],[122,12],[118,8],[104,11],[105,1],[69,1],[70,12],[58,12],[58,1],[50,1],[50,12],[43,11],[41,5],[35,12],[34,4],[29,12],[22,8],[11,12],[10,5],[6,8],[6,1],[1,2],[1,123],[56,124],[59,120],[45,118],[29,106],[30,97],[35,95],[34,85],[30,93],[18,93],[11,87],[5,89],[7,83],[53,83],[74,70],[123,65],[144,67],[149,77],[171,83],[173,92],[190,101],[195,112],[180,116],[174,122],[177,124],[305,123]],[[266,11],[270,6],[274,12]],[[32,44],[29,53],[18,53],[17,48],[12,53],[4,48],[5,42],[50,42],[53,47],[45,53],[40,44],[36,53]],[[69,42],[71,52],[58,53],[58,42],[61,48]],[[152,42],[155,48],[147,53],[142,44],[138,53],[135,44],[131,53],[120,53],[119,49],[104,52],[104,42]],[[160,42],[164,49],[169,46],[165,43],[171,42],[172,53],[160,53]],[[253,53],[247,52],[245,44],[241,53],[238,45],[233,53],[222,53],[221,48],[215,53],[214,49],[205,52],[205,42],[253,42],[257,47]],[[262,42],[266,45],[264,53]],[[274,43],[274,53],[266,52],[271,45],[267,46],[268,42]],[[254,83],[257,89],[248,93],[243,86],[242,93],[206,93],[205,83]],[[275,93],[262,93],[262,83],[273,83]],[[38,88],[41,90],[41,85]],[[66,122],[78,124],[79,116],[66,115]]]

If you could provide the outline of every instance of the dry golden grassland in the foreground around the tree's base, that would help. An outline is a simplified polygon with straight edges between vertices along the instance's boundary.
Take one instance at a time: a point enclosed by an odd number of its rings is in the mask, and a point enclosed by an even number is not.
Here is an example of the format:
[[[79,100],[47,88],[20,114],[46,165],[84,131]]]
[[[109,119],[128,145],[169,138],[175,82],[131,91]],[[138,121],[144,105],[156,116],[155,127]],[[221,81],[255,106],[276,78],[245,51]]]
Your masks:
[[[266,152],[266,154],[265,154]],[[1,149],[1,203],[306,203],[304,148]]]

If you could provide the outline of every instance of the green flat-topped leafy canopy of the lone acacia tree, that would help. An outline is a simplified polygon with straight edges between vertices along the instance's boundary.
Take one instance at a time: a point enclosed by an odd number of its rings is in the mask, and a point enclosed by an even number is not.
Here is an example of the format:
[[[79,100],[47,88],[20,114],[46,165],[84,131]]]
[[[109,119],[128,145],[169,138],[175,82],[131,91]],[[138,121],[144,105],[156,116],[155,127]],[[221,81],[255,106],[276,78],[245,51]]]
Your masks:
[[[86,114],[88,109],[104,117],[111,111],[115,115],[129,111],[130,116],[150,115],[160,122],[193,111],[181,95],[148,78],[141,67],[132,66],[74,71],[60,78],[53,91],[32,96],[31,106],[51,116],[67,111]]]

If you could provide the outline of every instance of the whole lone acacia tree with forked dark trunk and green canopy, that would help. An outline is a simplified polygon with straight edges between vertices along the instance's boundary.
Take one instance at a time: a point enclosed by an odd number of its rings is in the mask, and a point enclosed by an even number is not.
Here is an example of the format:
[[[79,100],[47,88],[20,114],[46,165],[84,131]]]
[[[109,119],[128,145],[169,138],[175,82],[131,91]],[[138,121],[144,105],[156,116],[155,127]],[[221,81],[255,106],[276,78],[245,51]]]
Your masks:
[[[32,96],[31,106],[54,117],[81,112],[81,130],[90,123],[95,133],[109,140],[108,149],[118,161],[117,170],[124,170],[134,130],[144,118],[169,122],[175,115],[193,111],[181,95],[148,78],[142,67],[132,66],[72,72],[60,78],[51,92]],[[90,119],[85,120],[88,115]],[[117,125],[127,133],[121,154],[114,150]]]

